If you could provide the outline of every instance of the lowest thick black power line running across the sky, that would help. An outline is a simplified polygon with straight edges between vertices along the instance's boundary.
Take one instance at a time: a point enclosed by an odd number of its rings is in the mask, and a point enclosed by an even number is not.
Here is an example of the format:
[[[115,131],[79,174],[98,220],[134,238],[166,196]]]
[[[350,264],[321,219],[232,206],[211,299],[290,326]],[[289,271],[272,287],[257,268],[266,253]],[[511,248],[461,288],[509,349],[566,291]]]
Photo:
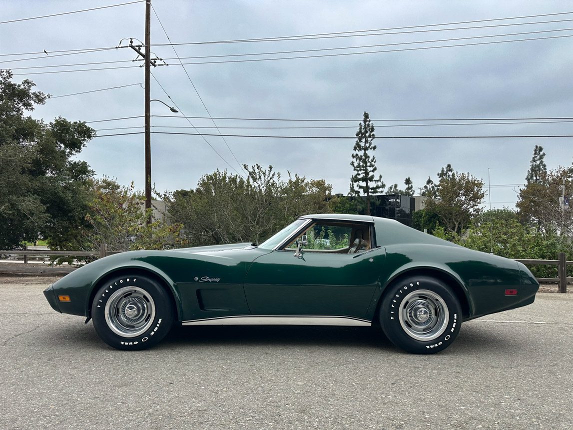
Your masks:
[[[143,131],[98,135],[97,137],[123,136],[129,134],[142,134]],[[187,136],[219,136],[209,133],[184,133],[174,131],[152,131],[154,134],[172,134]],[[356,139],[356,136],[261,136],[246,134],[224,134],[223,136],[235,138],[265,138],[265,139]],[[560,135],[507,135],[507,136],[376,136],[376,139],[528,139],[528,138],[572,138],[573,134]],[[228,164],[228,163],[227,163]],[[235,170],[236,171],[236,170]],[[238,173],[238,172],[237,172]]]

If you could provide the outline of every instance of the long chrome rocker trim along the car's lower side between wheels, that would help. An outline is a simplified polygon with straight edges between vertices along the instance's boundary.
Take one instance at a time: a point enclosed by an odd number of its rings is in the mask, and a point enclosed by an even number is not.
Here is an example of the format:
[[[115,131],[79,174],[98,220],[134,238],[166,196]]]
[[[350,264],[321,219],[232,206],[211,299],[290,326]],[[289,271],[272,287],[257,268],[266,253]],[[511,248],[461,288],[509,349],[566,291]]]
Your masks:
[[[352,316],[243,315],[183,321],[183,326],[360,326],[371,321]]]

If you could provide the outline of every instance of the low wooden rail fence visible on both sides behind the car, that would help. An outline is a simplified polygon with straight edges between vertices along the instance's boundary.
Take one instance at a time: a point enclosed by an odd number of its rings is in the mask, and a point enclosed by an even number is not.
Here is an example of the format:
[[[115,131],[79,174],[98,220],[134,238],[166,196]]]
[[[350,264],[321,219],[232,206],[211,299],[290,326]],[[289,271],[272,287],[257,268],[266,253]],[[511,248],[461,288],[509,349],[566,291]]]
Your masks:
[[[118,254],[121,251],[108,251],[107,244],[101,244],[99,252],[97,251],[50,251],[49,249],[23,249],[22,251],[1,251],[0,255],[23,255],[24,263],[28,263],[28,256],[63,256],[63,257],[97,257],[103,258],[108,255]],[[528,260],[528,259],[515,259],[523,264],[531,265],[556,265],[558,277],[538,277],[536,278],[540,283],[558,283],[559,292],[567,292],[567,283],[573,283],[573,277],[567,277],[567,264],[573,265],[573,261],[567,261],[565,253],[559,253],[558,260]]]

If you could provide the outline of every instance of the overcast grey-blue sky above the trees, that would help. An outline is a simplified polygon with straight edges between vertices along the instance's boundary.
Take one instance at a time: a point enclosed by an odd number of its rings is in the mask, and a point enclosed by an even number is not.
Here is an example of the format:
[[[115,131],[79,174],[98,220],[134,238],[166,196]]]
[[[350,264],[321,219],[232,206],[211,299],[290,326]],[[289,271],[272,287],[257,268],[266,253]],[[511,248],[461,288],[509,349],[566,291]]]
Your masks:
[[[128,0],[3,0],[1,21],[37,17]],[[376,135],[420,136],[416,139],[376,139],[378,173],[387,186],[403,186],[405,177],[421,187],[446,163],[492,185],[524,182],[533,147],[541,144],[549,168],[571,165],[571,138],[462,139],[427,136],[563,135],[573,134],[573,123],[482,124],[409,126],[439,122],[390,122],[403,119],[562,118],[573,117],[573,4],[567,1],[175,1],[153,0],[171,42],[244,40],[319,33],[351,33],[356,37],[311,40],[258,41],[176,46],[179,57],[223,56],[352,46],[386,45],[359,49],[321,50],[265,56],[183,59],[183,62],[253,60],[365,51],[397,50],[356,55],[295,58],[276,61],[223,62],[186,65],[186,71],[209,112],[222,118],[338,119],[347,122],[277,122],[215,120],[223,134],[282,136],[354,136],[364,111],[370,113]],[[53,96],[143,83],[143,68],[42,73],[140,65],[131,62],[129,48],[56,56],[58,50],[107,48],[120,40],[144,39],[145,3],[85,11],[57,17],[0,24],[0,68],[11,68],[14,79],[31,79],[40,91]],[[570,12],[570,14],[563,14]],[[526,15],[558,14],[523,19],[429,26]],[[525,22],[560,21],[544,24]],[[504,25],[504,26],[500,26]],[[428,26],[403,29],[411,26]],[[468,29],[480,26],[482,28]],[[494,26],[494,27],[492,27]],[[360,33],[362,30],[384,30]],[[461,29],[464,28],[464,29]],[[450,30],[444,30],[450,29]],[[452,30],[453,29],[453,30]],[[566,30],[570,29],[570,30]],[[423,30],[423,31],[422,31]],[[441,30],[441,31],[427,31]],[[548,30],[564,30],[553,31]],[[409,33],[404,33],[409,32]],[[515,34],[515,33],[530,34]],[[536,33],[532,33],[536,32]],[[541,32],[541,33],[540,33]],[[377,34],[372,33],[401,33]],[[514,36],[488,37],[502,34]],[[338,36],[349,36],[339,34]],[[357,36],[359,35],[359,36]],[[479,37],[479,38],[476,38]],[[488,43],[438,49],[430,46],[477,44],[524,38],[543,40]],[[552,37],[552,38],[547,38]],[[461,39],[452,41],[451,39]],[[448,40],[425,44],[421,41]],[[155,14],[152,44],[167,38]],[[127,40],[121,42],[126,46]],[[390,45],[388,44],[398,44]],[[48,55],[13,53],[48,52]],[[409,49],[409,50],[404,50]],[[154,46],[161,58],[175,58],[171,46]],[[24,58],[35,58],[25,61]],[[127,61],[76,67],[38,68],[90,62]],[[207,116],[193,85],[178,60],[152,68],[166,93],[152,79],[151,97],[176,104],[187,116]],[[33,69],[18,69],[34,67]],[[99,135],[143,131],[143,118],[94,122],[143,115],[144,91],[139,85],[56,97],[32,113],[49,122],[57,116],[90,122]],[[176,118],[164,105],[152,102],[153,131],[196,132],[185,119]],[[190,119],[195,127],[213,127],[209,119]],[[484,121],[492,123],[492,121]],[[497,121],[504,122],[504,121]],[[505,121],[507,122],[507,121]],[[443,121],[444,124],[456,123]],[[350,127],[350,128],[222,128],[222,127]],[[386,127],[393,126],[393,127]],[[124,130],[105,128],[138,127]],[[217,134],[214,128],[199,128]],[[206,136],[213,149],[192,135],[152,134],[152,181],[158,190],[190,189],[215,169],[239,171],[241,163],[272,165],[285,174],[324,178],[335,193],[348,193],[349,165],[355,139],[272,139]],[[227,148],[227,144],[230,147]],[[98,176],[115,177],[127,185],[144,186],[143,134],[98,137],[80,155]],[[236,159],[235,159],[236,158]],[[228,164],[227,164],[228,163]],[[514,207],[517,186],[496,186],[494,207]],[[488,202],[488,197],[486,197]]]

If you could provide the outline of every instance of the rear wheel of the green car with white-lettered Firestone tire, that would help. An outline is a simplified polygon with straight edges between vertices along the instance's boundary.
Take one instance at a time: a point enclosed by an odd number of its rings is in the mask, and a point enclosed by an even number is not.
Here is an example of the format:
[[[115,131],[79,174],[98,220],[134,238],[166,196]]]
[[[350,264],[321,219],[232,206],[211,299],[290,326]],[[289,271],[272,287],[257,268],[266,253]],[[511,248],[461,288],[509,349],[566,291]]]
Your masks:
[[[429,276],[388,286],[380,305],[380,325],[394,345],[414,354],[434,354],[457,337],[460,302],[444,283]]]

